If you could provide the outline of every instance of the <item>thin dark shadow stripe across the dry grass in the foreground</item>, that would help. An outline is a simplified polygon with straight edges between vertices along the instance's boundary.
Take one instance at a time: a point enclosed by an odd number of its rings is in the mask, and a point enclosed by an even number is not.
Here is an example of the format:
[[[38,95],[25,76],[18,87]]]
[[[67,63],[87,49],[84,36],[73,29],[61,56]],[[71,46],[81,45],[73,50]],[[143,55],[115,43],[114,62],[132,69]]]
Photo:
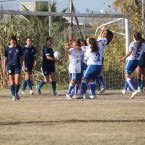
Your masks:
[[[58,121],[16,121],[16,122],[0,122],[0,126],[3,125],[23,125],[23,124],[39,124],[39,125],[47,125],[47,124],[62,124],[62,123],[145,123],[145,119],[137,119],[137,120],[58,120]]]

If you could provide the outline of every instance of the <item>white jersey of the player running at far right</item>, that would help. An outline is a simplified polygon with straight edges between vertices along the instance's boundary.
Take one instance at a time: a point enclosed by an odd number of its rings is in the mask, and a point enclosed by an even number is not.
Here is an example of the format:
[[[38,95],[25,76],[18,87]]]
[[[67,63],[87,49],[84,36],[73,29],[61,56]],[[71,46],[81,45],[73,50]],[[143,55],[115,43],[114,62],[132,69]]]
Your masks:
[[[139,46],[139,42],[132,41],[129,45],[129,51],[132,51],[132,53],[127,57],[127,60],[140,60],[141,55],[145,52],[145,43]]]

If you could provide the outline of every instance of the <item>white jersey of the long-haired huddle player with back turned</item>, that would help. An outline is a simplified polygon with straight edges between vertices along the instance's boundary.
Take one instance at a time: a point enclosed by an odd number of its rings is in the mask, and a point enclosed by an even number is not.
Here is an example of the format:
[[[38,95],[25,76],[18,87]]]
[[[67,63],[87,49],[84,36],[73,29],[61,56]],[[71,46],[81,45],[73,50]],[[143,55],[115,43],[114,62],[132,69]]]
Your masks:
[[[91,49],[89,48],[86,51],[86,57],[87,57],[87,65],[102,65],[102,55],[100,51],[98,52],[91,52]]]

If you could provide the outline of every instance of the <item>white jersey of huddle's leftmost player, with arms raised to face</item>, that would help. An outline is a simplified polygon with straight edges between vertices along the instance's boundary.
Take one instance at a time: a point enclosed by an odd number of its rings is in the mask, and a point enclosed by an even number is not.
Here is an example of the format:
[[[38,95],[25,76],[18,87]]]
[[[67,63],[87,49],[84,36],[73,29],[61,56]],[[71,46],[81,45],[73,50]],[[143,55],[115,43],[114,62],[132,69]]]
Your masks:
[[[69,73],[81,73],[83,52],[81,50],[69,49]]]

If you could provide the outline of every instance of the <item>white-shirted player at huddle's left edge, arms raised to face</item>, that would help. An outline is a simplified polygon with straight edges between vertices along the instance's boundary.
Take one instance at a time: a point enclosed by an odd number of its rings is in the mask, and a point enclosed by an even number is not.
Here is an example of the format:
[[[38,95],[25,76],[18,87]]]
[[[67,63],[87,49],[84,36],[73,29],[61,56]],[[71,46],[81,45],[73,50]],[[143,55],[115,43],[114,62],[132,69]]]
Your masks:
[[[71,98],[75,99],[77,98],[77,92],[82,78],[83,52],[81,50],[79,41],[74,41],[71,46],[66,45],[65,51],[69,57],[69,76],[70,76],[70,83],[66,97],[68,99]]]

